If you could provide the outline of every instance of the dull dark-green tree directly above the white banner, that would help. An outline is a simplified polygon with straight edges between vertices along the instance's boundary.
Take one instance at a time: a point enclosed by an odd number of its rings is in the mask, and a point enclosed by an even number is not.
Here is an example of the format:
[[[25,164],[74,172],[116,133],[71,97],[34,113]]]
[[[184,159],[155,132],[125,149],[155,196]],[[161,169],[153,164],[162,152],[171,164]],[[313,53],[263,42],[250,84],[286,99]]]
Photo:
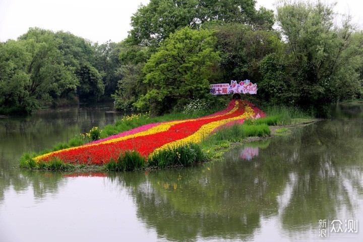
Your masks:
[[[246,24],[216,26],[219,63],[223,80],[260,79],[259,62],[270,53],[281,52],[283,43],[276,31],[254,29]]]

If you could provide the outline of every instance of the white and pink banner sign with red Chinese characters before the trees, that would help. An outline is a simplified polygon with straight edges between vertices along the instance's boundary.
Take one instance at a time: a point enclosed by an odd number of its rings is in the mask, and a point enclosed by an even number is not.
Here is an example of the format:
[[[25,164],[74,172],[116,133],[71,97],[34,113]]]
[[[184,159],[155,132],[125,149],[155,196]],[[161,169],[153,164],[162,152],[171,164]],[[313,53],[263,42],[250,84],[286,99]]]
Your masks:
[[[257,84],[253,84],[250,80],[240,81],[239,83],[232,80],[230,84],[211,84],[209,90],[213,95],[233,93],[257,94]]]

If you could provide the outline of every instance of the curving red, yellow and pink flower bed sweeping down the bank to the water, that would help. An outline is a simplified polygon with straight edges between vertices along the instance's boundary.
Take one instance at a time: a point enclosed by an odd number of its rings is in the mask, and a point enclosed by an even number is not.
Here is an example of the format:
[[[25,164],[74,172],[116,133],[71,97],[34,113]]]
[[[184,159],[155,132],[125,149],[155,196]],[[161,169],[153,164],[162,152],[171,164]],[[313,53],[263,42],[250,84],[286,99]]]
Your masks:
[[[58,157],[67,163],[103,165],[116,160],[126,150],[136,150],[145,158],[169,146],[198,143],[216,129],[246,118],[263,117],[265,114],[248,101],[232,100],[223,111],[209,116],[145,125],[130,131],[94,141],[82,146],[58,150],[37,156],[37,161],[49,161]]]

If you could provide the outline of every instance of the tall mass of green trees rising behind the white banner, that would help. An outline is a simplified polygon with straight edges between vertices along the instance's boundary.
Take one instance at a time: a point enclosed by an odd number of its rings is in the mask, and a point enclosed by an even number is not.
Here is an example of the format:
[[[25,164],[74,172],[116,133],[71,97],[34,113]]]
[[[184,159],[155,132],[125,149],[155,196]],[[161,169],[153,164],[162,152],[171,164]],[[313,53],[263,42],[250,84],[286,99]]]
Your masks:
[[[259,86],[256,102],[327,115],[331,103],[362,96],[363,35],[349,17],[337,25],[333,7],[281,2],[276,30],[273,12],[253,1],[152,0],[132,17],[125,46],[135,58],[120,55],[128,72],[115,107],[180,110],[190,99],[210,101],[210,83],[249,79]],[[213,36],[213,56],[198,55],[190,33]]]

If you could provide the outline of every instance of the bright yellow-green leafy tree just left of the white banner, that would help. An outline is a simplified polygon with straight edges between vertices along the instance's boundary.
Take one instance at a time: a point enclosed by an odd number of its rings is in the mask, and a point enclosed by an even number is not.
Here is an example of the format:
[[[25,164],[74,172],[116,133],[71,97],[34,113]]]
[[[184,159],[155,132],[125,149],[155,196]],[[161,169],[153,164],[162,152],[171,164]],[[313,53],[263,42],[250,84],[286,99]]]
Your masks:
[[[152,103],[158,111],[165,111],[177,101],[205,96],[208,78],[220,59],[215,43],[208,30],[185,27],[170,34],[143,69],[149,89],[135,105],[143,108]]]

